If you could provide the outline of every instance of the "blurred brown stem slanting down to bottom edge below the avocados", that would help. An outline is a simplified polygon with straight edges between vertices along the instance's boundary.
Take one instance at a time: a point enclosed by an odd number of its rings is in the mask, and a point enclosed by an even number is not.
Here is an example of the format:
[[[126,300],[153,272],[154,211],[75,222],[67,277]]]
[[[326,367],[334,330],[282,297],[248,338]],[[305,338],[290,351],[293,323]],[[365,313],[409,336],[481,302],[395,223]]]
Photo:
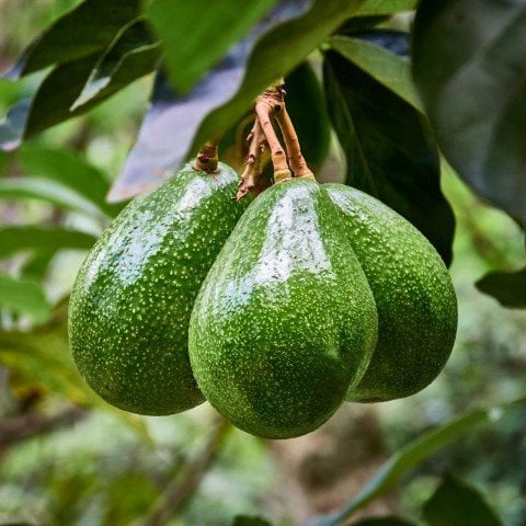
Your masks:
[[[219,446],[229,428],[230,424],[226,420],[221,419],[217,422],[204,448],[186,465],[183,480],[176,480],[168,484],[163,494],[153,504],[149,515],[138,524],[136,523],[137,526],[163,526],[173,517],[174,513],[183,506],[199,485],[207,469],[216,458]]]

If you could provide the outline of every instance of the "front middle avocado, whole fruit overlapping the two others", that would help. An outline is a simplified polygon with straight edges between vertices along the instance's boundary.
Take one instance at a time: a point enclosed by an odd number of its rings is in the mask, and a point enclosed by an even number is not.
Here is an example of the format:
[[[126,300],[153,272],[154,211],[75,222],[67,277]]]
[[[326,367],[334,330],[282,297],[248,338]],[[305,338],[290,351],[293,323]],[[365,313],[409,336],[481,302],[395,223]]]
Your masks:
[[[195,301],[188,348],[207,400],[254,435],[308,433],[343,402],[376,343],[373,294],[320,185],[267,188]]]

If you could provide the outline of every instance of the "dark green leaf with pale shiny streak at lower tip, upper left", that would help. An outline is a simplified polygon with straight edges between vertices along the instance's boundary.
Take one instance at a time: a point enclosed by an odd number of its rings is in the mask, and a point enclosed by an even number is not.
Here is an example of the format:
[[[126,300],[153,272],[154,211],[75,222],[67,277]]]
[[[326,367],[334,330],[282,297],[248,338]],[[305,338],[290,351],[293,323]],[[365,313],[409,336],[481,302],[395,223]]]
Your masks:
[[[136,20],[123,27],[112,45],[102,54],[82,92],[71,105],[77,110],[94,98],[114,93],[156,70],[161,55],[148,26]]]

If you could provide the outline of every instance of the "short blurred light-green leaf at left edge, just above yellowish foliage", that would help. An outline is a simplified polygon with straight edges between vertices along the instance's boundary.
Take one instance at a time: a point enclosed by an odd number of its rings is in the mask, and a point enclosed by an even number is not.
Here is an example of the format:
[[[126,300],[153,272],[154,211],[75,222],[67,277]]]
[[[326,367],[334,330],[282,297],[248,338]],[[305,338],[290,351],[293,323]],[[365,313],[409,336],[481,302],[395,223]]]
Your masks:
[[[0,306],[26,315],[35,323],[43,323],[52,313],[41,283],[3,273],[0,273]]]

